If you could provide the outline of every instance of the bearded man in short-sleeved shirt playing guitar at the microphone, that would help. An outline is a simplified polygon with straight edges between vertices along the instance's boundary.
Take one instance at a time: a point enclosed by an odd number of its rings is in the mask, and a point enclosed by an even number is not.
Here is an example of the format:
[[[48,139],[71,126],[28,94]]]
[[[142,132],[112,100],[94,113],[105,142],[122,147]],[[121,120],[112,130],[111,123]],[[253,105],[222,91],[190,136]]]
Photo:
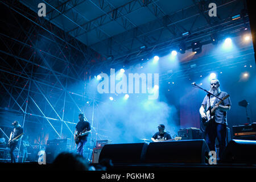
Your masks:
[[[220,81],[217,79],[212,79],[210,81],[210,90],[209,92],[213,93],[215,96],[224,98],[228,95],[226,92],[220,90]],[[220,105],[217,106],[217,102],[220,100],[214,96],[210,96],[210,103],[208,96],[204,97],[202,105],[200,107],[200,115],[203,119],[207,119],[205,111],[211,107],[211,109],[216,106],[216,110],[212,113],[213,119],[210,120],[208,125],[205,127],[205,140],[209,146],[210,151],[215,151],[215,139],[217,137],[218,144],[220,147],[219,156],[224,152],[226,147],[226,113],[230,110],[231,101],[230,98],[226,98]]]

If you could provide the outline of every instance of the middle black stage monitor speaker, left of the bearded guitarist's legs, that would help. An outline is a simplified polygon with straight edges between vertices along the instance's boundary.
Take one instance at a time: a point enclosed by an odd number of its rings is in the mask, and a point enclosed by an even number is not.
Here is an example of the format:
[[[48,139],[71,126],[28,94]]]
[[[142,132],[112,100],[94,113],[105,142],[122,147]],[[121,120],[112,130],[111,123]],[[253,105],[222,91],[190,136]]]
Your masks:
[[[204,139],[150,143],[146,163],[208,163],[209,148]]]

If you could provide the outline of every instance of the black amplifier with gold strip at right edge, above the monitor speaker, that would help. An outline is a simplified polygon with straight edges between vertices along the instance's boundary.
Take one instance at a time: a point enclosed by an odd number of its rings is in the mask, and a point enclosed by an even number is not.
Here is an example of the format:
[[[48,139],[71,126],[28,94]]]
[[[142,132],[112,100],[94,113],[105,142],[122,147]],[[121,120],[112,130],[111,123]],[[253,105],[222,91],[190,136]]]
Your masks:
[[[256,123],[233,126],[233,138],[256,140]]]

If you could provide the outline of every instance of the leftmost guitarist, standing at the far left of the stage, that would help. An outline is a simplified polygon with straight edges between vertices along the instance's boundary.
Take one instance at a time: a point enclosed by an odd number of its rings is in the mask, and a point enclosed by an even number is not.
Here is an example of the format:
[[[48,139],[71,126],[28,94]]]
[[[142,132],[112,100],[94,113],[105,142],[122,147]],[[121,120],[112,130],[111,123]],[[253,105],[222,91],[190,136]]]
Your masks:
[[[18,145],[18,141],[22,138],[22,135],[13,140],[14,138],[18,137],[18,135],[23,133],[23,127],[19,125],[18,121],[14,121],[11,125],[14,126],[13,131],[11,131],[10,139],[9,139],[9,144],[10,144],[10,156],[11,156],[11,163],[15,163],[15,155],[14,155],[14,150],[16,146]]]

